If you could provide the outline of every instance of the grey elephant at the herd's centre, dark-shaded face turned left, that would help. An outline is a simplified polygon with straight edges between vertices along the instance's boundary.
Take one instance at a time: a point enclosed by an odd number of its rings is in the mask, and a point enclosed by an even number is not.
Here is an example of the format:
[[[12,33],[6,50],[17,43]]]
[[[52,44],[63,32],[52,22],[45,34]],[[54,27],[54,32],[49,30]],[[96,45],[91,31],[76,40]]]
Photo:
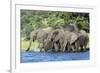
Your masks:
[[[62,51],[64,52],[64,40],[65,40],[65,32],[63,29],[56,29],[53,33],[52,33],[52,37],[51,39],[53,40],[54,43],[54,48],[55,51]]]

